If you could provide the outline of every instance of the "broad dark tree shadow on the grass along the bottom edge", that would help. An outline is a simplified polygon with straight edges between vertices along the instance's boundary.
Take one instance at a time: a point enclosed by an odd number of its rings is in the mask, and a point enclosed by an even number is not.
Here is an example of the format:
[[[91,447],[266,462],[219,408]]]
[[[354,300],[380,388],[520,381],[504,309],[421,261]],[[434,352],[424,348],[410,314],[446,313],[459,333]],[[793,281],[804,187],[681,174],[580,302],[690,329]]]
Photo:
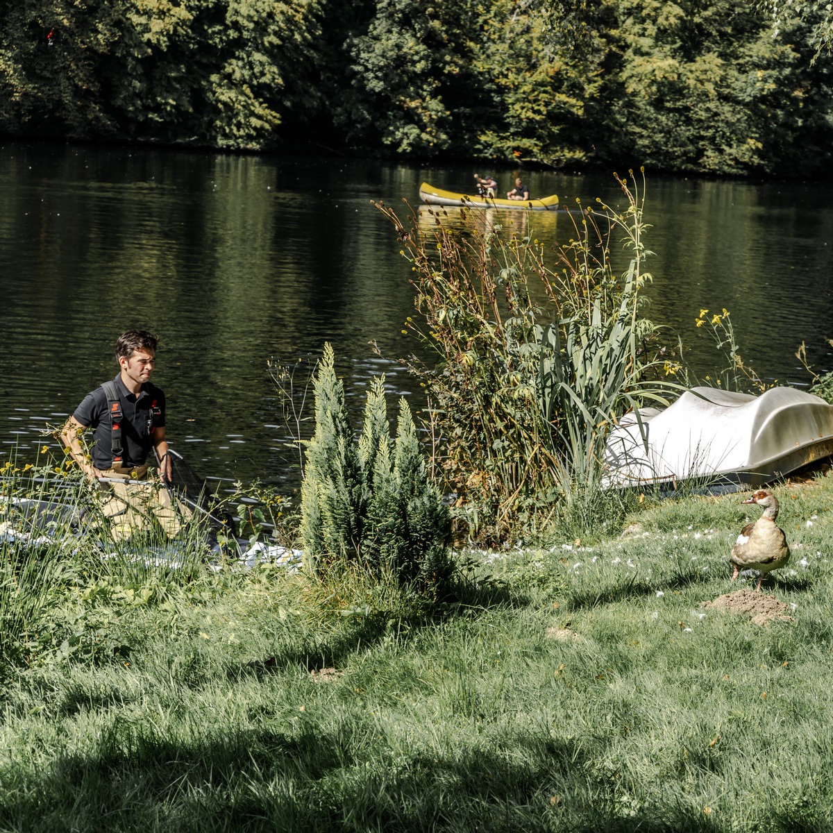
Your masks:
[[[47,771],[0,772],[0,826],[41,831],[676,831],[714,826],[701,811],[635,809],[577,741],[505,738],[506,751],[394,755],[360,720],[324,730],[188,726],[179,742],[113,721],[87,756]],[[294,725],[292,725],[294,724]],[[330,724],[332,726],[332,724]],[[447,745],[441,745],[446,748]]]

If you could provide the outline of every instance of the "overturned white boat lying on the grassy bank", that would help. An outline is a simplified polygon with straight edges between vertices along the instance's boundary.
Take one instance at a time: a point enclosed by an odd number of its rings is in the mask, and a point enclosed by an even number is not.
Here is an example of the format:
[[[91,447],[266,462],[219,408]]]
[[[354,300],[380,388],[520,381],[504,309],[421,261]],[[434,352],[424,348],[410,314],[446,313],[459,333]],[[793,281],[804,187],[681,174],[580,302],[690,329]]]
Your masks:
[[[793,387],[756,397],[693,387],[664,409],[628,414],[606,447],[611,486],[762,486],[833,454],[833,405]]]

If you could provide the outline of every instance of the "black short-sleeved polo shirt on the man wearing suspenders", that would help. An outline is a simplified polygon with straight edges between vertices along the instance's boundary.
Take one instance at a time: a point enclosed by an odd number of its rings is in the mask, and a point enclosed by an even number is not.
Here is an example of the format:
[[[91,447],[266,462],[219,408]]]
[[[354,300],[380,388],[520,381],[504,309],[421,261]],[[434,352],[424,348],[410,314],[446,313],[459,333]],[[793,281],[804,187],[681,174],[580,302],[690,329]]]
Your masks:
[[[165,394],[151,382],[145,382],[138,396],[127,390],[122,374],[116,382],[118,398],[122,405],[122,466],[142,466],[152,448],[151,408],[157,407],[162,416],[157,416],[152,427],[165,426]],[[72,414],[82,426],[92,426],[92,465],[97,469],[112,466],[112,422],[107,394],[102,387],[87,393],[83,402]]]

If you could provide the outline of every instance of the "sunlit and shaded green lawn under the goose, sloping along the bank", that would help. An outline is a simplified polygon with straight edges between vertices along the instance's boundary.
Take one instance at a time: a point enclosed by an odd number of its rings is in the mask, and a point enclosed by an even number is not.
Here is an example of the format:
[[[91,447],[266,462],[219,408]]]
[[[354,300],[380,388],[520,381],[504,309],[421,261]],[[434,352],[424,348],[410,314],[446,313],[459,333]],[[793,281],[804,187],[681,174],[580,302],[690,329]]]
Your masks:
[[[777,493],[766,627],[699,606],[738,589],[738,495],[462,554],[432,617],[275,568],[79,592],[126,650],[7,666],[0,830],[829,831],[833,478]]]

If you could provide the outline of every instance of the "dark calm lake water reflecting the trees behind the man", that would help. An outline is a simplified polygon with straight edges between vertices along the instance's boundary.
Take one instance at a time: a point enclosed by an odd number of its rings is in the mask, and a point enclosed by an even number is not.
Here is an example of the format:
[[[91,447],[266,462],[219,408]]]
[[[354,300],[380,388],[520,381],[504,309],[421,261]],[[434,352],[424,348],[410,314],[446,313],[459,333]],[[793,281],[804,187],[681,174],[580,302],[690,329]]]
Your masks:
[[[508,189],[511,172],[494,172]],[[423,180],[468,191],[471,168],[0,142],[0,461],[56,446],[44,431],[115,375],[117,336],[142,327],[161,336],[154,381],[172,446],[203,476],[292,488],[270,360],[332,342],[354,412],[380,372],[392,393],[412,392],[368,343],[390,357],[415,347],[401,334],[410,267],[371,200],[416,205]],[[568,204],[621,203],[612,175],[526,182]],[[829,186],[649,172],[647,189],[651,317],[681,334],[697,372],[724,364],[694,326],[722,307],[763,377],[806,385],[802,341],[833,367]],[[516,222],[548,243],[571,236],[564,212]]]

